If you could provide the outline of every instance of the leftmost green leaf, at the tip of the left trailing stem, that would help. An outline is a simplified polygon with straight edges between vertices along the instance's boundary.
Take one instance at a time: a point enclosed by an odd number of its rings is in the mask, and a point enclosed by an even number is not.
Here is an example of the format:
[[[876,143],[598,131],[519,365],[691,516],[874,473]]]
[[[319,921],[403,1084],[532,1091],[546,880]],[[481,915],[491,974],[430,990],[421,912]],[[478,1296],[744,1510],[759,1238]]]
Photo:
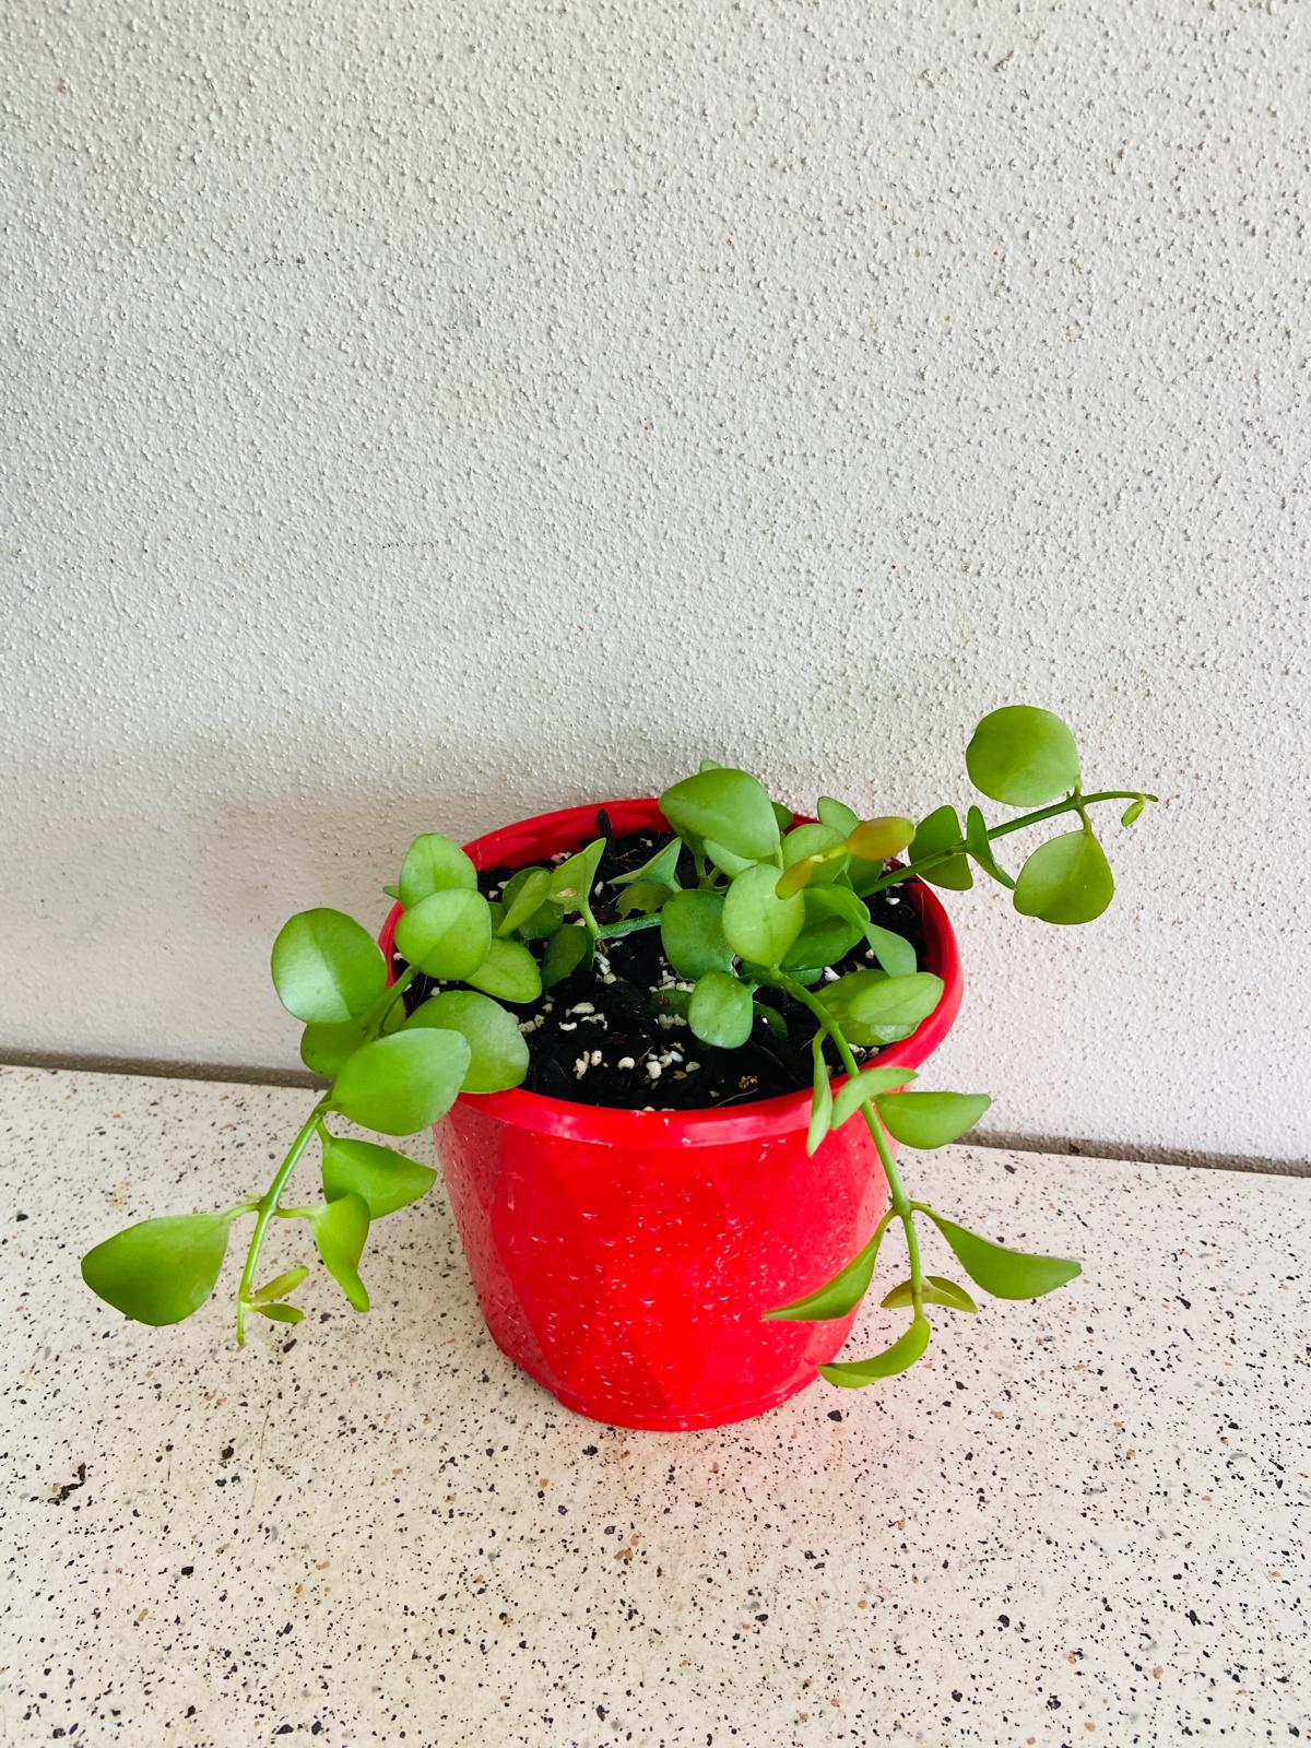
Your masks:
[[[232,1215],[142,1220],[82,1257],[82,1280],[136,1323],[180,1323],[213,1292]]]

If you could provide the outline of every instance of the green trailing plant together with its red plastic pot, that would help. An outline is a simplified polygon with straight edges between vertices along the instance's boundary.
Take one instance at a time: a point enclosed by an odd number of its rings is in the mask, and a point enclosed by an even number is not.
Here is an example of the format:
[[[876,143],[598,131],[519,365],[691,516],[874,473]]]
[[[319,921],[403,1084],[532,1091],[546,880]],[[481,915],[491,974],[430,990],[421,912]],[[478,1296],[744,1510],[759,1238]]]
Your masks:
[[[897,1147],[942,1147],[988,1108],[926,1091],[916,1068],[961,998],[933,888],[982,869],[1016,909],[1087,923],[1112,898],[1089,809],[1154,795],[1086,794],[1070,729],[1007,706],[967,748],[974,785],[1028,809],[961,825],[860,818],[832,797],[795,816],[748,773],[706,762],[659,802],[572,808],[461,850],[423,834],[388,888],[379,942],[339,911],[294,916],[273,982],[327,1087],[267,1190],[234,1208],[143,1220],[82,1259],[87,1285],[143,1323],[212,1294],[232,1225],[252,1217],[236,1299],[295,1323],[306,1264],[260,1280],[274,1222],[304,1222],[357,1311],[371,1224],[435,1173],[334,1131],[437,1126],[460,1236],[498,1344],[561,1402],[628,1426],[710,1426],[811,1383],[857,1388],[912,1365],[930,1311],[975,1311],[928,1273],[935,1234],[965,1276],[1033,1299],[1079,1274],[1005,1250],[916,1201]],[[1061,816],[1010,876],[995,844]],[[898,860],[900,858],[900,860]],[[322,1199],[285,1196],[318,1150]],[[904,1330],[836,1360],[884,1236],[905,1250],[884,1308]]]

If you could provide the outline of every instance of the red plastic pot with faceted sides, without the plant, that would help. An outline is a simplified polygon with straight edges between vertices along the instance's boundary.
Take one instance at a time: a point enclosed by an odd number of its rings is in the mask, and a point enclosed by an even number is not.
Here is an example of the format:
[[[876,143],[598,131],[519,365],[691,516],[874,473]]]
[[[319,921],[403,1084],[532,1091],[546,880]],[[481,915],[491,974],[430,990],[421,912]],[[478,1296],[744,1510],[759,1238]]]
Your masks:
[[[654,801],[605,802],[615,836],[662,827]],[[467,846],[523,867],[596,836],[566,808]],[[907,881],[942,1000],[879,1061],[914,1068],[956,1017],[956,937]],[[379,944],[392,958],[400,905]],[[675,1432],[750,1419],[804,1390],[855,1313],[769,1323],[869,1238],[888,1206],[864,1124],[806,1155],[809,1091],[731,1110],[607,1110],[538,1092],[461,1094],[437,1124],[446,1187],[496,1344],[565,1407]]]

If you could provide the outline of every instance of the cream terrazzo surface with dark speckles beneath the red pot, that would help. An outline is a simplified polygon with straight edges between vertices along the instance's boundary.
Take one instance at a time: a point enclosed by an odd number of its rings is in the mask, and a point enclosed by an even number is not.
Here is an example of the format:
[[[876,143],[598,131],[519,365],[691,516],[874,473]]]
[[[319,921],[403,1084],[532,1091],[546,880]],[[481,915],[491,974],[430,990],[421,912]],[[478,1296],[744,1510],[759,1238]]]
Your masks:
[[[883,1391],[617,1433],[495,1349],[439,1197],[371,1318],[318,1280],[241,1356],[225,1299],[154,1332],[86,1295],[87,1243],[262,1185],[302,1108],[0,1070],[0,1743],[1311,1734],[1306,1180],[916,1161],[1086,1280]]]

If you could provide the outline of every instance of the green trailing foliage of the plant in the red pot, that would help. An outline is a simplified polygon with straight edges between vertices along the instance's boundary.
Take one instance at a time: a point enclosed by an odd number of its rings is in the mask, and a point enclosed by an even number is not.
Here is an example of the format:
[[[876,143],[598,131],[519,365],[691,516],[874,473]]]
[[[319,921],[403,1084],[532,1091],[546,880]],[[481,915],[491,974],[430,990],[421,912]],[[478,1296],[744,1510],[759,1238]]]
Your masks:
[[[912,1201],[893,1161],[891,1141],[944,1147],[988,1110],[984,1092],[925,1091],[895,1065],[862,1065],[855,1049],[881,1051],[907,1038],[940,996],[942,982],[916,965],[912,947],[876,925],[867,900],[911,877],[953,891],[975,871],[1014,897],[1016,909],[1047,923],[1089,923],[1112,900],[1110,864],[1089,808],[1127,802],[1133,825],[1154,795],[1082,792],[1070,729],[1047,710],[1009,704],[982,718],[965,762],[991,801],[1033,811],[988,825],[977,804],[965,825],[954,806],[925,815],[864,818],[822,795],[815,822],[795,822],[746,771],[706,760],[661,797],[675,837],[650,860],[614,881],[619,921],[593,914],[605,839],[580,844],[559,862],[545,855],[519,869],[489,902],[465,851],[439,832],[409,846],[399,881],[395,928],[406,968],[388,984],[388,967],[369,932],[332,909],[301,911],[273,944],[273,984],[304,1033],[301,1056],[329,1086],[259,1199],[218,1213],[142,1220],[107,1238],[82,1259],[87,1287],[128,1318],[177,1323],[213,1292],[236,1220],[253,1217],[238,1287],[238,1342],[246,1314],[295,1323],[290,1295],[308,1271],[297,1264],[257,1287],[257,1267],[273,1220],[299,1220],[313,1252],[357,1311],[369,1294],[360,1262],[374,1220],[418,1201],[435,1173],[395,1148],[337,1134],[332,1117],[388,1136],[414,1134],[439,1120],[460,1094],[502,1092],[523,1082],[528,1044],[503,1003],[533,1002],[544,988],[591,963],[598,940],[635,928],[659,928],[664,954],[689,989],[662,991],[708,1049],[741,1047],[755,1026],[785,1019],[757,991],[785,991],[808,1019],[815,1065],[806,1147],[820,1152],[843,1124],[869,1129],[891,1206],[874,1236],[829,1280],[802,1297],[764,1309],[773,1320],[848,1316],[874,1278],[886,1232],[904,1232],[909,1276],[883,1299],[911,1313],[905,1330],[869,1360],[822,1367],[843,1388],[860,1388],[914,1365],[930,1342],[925,1308],[972,1313],[970,1294],[919,1260],[916,1217],[923,1217],[970,1281],[998,1299],[1035,1299],[1079,1274],[1079,1264],[1010,1250]],[[1012,876],[998,862],[998,839],[1059,816],[1070,829],[1040,843]],[[680,886],[680,855],[690,851],[696,884]],[[893,858],[902,860],[893,860]],[[865,940],[869,968],[836,975]],[[413,1014],[404,995],[416,975],[442,988]],[[318,1145],[323,1201],[285,1206],[283,1192],[306,1152]],[[304,1229],[302,1227],[302,1229]]]

